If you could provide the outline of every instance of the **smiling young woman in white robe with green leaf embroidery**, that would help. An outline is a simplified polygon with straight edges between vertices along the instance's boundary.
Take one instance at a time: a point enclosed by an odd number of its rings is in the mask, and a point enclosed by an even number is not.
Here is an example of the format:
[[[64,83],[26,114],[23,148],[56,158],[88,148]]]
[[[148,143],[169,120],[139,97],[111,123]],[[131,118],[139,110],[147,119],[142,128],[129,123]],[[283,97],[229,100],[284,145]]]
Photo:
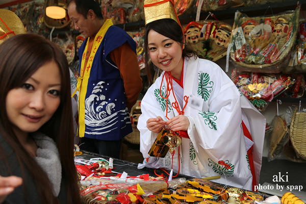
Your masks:
[[[144,161],[138,168],[173,169],[194,177],[221,175],[214,182],[254,190],[266,125],[262,114],[217,64],[199,59],[184,44],[176,21],[147,24],[145,52],[163,72],[141,101],[137,127]],[[150,70],[147,76],[151,79]],[[162,128],[188,133],[173,157],[170,152],[164,158],[148,155]]]

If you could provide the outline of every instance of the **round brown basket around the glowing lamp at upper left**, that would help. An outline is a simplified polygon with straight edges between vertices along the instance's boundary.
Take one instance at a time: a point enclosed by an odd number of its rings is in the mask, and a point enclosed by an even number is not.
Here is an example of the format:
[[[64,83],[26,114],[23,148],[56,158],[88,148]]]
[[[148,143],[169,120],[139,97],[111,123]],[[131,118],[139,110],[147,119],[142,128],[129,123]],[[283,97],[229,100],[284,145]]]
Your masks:
[[[45,0],[45,7],[48,7],[49,5],[52,5],[52,3],[54,2],[54,0]],[[46,15],[46,12],[44,12],[43,14],[43,19],[44,19],[44,23],[46,24],[46,26],[48,28],[56,28],[56,29],[62,29],[65,28],[67,26],[70,25],[70,19],[68,17],[68,13],[67,13],[67,5],[61,1],[59,1],[59,6],[63,7],[66,10],[66,17],[62,18],[62,19],[53,19],[53,18],[49,18]]]

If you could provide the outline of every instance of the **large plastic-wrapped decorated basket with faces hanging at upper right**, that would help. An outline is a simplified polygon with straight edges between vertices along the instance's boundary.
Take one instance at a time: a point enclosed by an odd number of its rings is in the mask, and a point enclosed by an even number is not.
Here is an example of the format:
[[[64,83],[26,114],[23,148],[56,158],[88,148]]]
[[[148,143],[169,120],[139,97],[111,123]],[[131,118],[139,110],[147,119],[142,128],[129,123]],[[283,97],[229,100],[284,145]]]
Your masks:
[[[237,69],[279,73],[288,65],[298,29],[300,5],[273,16],[247,17],[237,12],[230,57]]]

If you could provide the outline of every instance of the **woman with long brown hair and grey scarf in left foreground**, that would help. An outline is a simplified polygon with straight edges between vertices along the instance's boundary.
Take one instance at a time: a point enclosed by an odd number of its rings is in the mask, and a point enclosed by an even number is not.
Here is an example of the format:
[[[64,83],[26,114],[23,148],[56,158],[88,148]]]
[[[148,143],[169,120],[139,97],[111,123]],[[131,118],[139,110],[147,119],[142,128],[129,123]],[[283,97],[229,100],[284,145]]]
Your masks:
[[[36,34],[9,38],[0,45],[0,87],[0,175],[8,176],[0,177],[0,202],[80,203],[62,50]],[[1,194],[1,181],[15,176],[22,184]]]

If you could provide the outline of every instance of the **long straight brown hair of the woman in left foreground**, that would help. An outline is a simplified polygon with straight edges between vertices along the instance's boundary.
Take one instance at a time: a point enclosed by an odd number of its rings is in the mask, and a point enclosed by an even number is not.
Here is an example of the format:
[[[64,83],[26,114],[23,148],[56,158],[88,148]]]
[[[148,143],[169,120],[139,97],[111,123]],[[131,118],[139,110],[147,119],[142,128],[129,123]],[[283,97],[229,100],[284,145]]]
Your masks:
[[[68,186],[65,203],[80,203],[77,171],[73,162],[73,122],[69,68],[67,59],[58,45],[37,34],[19,34],[0,45],[0,107],[6,110],[8,92],[20,87],[37,69],[50,61],[56,62],[60,69],[61,101],[53,117],[38,131],[52,138],[59,149],[62,177],[67,179]],[[15,152],[21,170],[24,168],[30,170],[41,202],[59,203],[53,195],[52,186],[46,173],[18,141],[6,111],[0,113],[0,134]],[[3,151],[1,145],[0,150]],[[7,167],[8,171],[10,168]],[[24,171],[22,170],[22,172],[23,181],[25,181]],[[25,192],[26,185],[23,186]]]

